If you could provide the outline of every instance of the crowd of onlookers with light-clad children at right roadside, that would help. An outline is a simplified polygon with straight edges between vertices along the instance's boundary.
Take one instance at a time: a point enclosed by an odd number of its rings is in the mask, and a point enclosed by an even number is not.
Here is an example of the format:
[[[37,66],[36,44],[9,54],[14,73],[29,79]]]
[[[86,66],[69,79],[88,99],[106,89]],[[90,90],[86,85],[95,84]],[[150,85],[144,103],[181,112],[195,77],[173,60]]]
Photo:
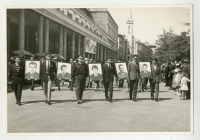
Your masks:
[[[161,65],[161,79],[169,86],[169,90],[174,90],[181,99],[190,99],[190,62],[167,61]]]

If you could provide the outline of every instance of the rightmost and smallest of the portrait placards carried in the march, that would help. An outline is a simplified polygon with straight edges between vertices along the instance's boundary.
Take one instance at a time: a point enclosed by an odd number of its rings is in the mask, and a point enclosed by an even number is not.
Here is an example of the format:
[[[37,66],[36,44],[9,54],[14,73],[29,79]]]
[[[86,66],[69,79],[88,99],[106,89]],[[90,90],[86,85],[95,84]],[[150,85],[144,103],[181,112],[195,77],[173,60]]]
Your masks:
[[[139,62],[139,69],[141,78],[151,78],[150,62]]]

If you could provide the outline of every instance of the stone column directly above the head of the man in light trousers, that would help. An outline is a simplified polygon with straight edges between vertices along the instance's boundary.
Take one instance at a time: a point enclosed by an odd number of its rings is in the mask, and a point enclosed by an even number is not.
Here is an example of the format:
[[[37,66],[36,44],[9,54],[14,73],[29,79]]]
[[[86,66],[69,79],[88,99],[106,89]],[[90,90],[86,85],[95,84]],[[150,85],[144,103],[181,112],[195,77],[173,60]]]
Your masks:
[[[49,52],[49,18],[44,20],[44,52]]]

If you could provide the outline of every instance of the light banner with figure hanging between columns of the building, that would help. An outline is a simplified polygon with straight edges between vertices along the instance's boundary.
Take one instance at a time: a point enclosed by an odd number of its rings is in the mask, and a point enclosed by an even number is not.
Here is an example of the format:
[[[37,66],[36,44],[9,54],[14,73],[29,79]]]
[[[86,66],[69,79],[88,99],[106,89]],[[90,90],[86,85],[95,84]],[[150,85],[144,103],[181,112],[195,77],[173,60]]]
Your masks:
[[[97,42],[95,42],[92,39],[86,37],[85,47],[86,47],[85,48],[85,52],[96,54]]]

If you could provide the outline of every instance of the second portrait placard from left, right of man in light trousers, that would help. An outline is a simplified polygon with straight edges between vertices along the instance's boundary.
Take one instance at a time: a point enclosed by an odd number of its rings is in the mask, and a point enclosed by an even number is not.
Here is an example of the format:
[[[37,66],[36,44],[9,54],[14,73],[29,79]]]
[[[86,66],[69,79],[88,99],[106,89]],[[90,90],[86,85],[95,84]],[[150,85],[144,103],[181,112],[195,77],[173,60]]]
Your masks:
[[[71,80],[71,64],[58,62],[57,79]]]

